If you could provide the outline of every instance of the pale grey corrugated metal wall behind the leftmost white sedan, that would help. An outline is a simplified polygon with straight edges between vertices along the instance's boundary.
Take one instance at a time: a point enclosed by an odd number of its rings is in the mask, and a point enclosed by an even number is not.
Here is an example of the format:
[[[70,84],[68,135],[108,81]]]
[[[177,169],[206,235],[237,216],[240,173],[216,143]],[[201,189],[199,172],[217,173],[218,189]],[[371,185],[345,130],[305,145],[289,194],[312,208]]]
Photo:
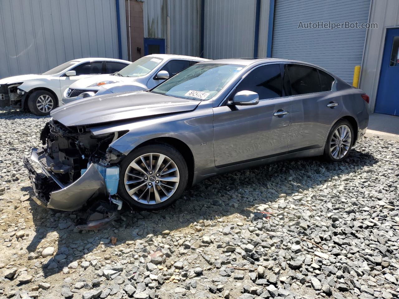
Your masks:
[[[1,0],[0,18],[0,78],[82,57],[119,58],[115,0]]]

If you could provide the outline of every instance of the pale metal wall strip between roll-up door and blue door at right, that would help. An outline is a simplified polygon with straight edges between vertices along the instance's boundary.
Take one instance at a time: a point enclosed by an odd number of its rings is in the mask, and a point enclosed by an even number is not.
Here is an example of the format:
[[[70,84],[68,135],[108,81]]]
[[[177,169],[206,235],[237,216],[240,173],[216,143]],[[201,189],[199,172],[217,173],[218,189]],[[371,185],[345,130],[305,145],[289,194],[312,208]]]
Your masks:
[[[370,23],[377,23],[378,29],[369,29],[367,31],[360,89],[370,96],[369,110],[373,112],[381,71],[386,28],[399,27],[399,1],[373,0],[371,3]]]

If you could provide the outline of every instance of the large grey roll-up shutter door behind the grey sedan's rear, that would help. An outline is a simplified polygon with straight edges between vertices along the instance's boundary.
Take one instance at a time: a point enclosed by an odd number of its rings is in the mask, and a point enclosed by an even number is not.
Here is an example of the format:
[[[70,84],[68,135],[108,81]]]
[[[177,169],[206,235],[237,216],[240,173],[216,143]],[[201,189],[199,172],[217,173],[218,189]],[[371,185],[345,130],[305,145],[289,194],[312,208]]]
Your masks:
[[[366,23],[370,0],[276,0],[272,57],[315,63],[352,83],[366,29],[306,29],[299,22]]]

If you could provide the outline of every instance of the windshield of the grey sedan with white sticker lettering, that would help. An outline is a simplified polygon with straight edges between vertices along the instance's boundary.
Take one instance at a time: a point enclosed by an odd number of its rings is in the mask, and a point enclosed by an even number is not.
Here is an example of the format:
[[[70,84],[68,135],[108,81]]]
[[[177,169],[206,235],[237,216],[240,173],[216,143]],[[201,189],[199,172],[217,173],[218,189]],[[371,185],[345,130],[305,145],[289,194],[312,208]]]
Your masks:
[[[242,69],[243,65],[198,63],[161,83],[151,92],[176,98],[209,100]]]

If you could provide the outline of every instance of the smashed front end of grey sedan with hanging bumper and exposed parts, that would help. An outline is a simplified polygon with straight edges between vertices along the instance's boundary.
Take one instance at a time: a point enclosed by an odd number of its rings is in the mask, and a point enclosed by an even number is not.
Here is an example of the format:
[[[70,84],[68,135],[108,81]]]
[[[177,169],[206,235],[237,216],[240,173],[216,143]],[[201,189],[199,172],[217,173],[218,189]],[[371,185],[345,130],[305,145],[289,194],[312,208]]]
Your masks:
[[[40,136],[43,148],[32,149],[30,159],[24,159],[36,203],[73,211],[79,229],[100,228],[114,220],[122,206],[116,193],[118,163],[124,155],[109,145],[122,134],[95,136],[84,126],[49,121]]]

